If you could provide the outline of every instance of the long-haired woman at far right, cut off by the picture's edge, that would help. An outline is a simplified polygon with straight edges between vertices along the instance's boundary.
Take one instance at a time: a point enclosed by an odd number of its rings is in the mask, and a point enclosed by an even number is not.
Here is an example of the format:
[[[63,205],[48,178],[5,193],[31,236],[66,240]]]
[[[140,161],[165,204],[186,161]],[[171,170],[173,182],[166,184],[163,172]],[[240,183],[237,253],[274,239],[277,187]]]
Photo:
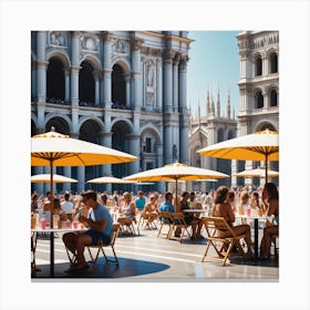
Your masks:
[[[268,223],[264,228],[264,235],[260,241],[260,258],[266,259],[270,257],[270,247],[272,238],[279,236],[279,193],[273,183],[266,183],[262,189],[262,203],[266,215],[273,216],[272,223]]]

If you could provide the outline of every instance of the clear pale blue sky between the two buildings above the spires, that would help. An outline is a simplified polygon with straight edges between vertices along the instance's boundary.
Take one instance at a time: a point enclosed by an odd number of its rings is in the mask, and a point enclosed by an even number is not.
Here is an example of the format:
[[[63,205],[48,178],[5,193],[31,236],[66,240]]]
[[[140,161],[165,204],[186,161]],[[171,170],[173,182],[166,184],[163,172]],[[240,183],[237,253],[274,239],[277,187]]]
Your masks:
[[[236,35],[239,31],[189,31],[190,44],[187,71],[187,99],[192,113],[206,115],[207,89],[215,103],[219,87],[221,113],[226,112],[230,90],[231,115],[239,110],[239,54]]]

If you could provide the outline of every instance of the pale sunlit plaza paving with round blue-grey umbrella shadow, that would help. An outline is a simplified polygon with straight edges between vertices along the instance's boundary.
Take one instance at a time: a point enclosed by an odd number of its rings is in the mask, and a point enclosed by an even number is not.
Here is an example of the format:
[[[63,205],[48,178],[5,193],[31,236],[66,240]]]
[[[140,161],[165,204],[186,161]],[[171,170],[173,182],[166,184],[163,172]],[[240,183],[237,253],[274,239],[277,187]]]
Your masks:
[[[117,237],[115,251],[120,266],[100,258],[94,271],[66,273],[69,259],[61,239],[55,238],[55,280],[93,279],[95,281],[278,281],[278,260],[247,261],[241,257],[230,258],[230,265],[200,262],[206,239],[183,242],[157,238],[157,229],[141,229],[141,235]],[[86,251],[85,251],[86,254]],[[106,249],[107,256],[112,255]],[[86,254],[87,255],[87,254]],[[89,259],[89,256],[86,256]],[[37,266],[42,271],[32,281],[50,277],[50,239],[41,236],[37,246]]]

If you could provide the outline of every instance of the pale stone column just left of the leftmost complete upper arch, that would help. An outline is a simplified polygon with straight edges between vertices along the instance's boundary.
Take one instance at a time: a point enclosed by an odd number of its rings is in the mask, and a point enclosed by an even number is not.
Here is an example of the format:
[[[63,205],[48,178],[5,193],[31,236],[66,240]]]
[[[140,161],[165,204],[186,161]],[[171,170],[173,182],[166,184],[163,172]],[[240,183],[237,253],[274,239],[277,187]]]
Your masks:
[[[46,66],[45,60],[45,31],[38,31],[37,38],[37,101],[38,103],[46,102]]]

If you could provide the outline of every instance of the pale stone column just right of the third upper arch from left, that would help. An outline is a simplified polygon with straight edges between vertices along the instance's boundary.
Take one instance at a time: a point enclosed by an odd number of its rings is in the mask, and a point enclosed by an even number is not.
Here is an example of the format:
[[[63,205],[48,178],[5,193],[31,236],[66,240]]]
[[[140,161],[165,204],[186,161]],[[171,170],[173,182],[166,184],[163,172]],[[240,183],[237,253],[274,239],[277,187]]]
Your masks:
[[[134,107],[135,111],[140,111],[142,104],[141,46],[142,40],[132,39],[132,107]]]

